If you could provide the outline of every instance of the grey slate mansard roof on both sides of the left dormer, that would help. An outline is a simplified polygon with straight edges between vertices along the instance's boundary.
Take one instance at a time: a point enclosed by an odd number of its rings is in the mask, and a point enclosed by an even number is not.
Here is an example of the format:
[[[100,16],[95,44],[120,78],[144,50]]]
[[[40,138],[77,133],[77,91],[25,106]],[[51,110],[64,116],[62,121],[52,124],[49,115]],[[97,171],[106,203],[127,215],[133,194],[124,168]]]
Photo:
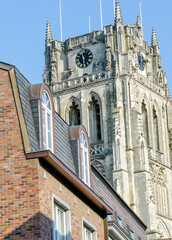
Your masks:
[[[16,82],[19,91],[22,112],[25,119],[31,152],[40,151],[39,133],[33,117],[34,104],[30,101],[30,86],[31,83],[20,73],[20,71],[13,65],[0,62],[0,69],[11,70],[14,68]],[[38,105],[38,104],[37,104]],[[40,122],[40,121],[39,121]],[[69,141],[69,125],[55,112],[54,114],[54,130],[55,130],[55,155],[66,165],[73,173],[76,174],[74,161],[72,157],[70,141]]]

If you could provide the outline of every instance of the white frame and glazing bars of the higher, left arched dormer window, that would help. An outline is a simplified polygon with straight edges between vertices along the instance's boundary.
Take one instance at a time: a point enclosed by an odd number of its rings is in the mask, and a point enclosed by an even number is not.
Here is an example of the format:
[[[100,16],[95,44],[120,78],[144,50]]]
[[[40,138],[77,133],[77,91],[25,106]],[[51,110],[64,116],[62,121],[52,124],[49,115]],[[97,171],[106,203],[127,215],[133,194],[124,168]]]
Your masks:
[[[50,109],[46,106],[47,104],[44,104],[43,102],[43,94],[46,94],[48,97],[48,101],[50,103]],[[43,112],[45,114],[45,118],[43,116]],[[50,117],[50,127],[48,129],[48,116]],[[45,121],[45,124],[44,124]],[[44,131],[45,129],[45,131]],[[53,149],[53,123],[52,123],[52,104],[51,104],[51,100],[50,100],[50,96],[48,94],[47,91],[43,91],[42,92],[42,143],[43,143],[43,149],[46,150],[51,150],[52,152],[54,151]],[[49,140],[48,140],[48,134],[50,134],[50,138],[51,138],[51,144],[49,146]],[[45,136],[44,136],[45,135]],[[45,139],[45,142],[44,142]]]

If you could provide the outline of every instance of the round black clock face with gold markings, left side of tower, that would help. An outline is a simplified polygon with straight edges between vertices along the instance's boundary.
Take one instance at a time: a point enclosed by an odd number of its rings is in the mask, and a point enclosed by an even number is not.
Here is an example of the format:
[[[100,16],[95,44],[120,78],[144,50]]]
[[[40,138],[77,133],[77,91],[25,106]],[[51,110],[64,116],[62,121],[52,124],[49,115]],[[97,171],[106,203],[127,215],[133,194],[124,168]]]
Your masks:
[[[89,49],[82,49],[77,55],[76,55],[76,65],[79,68],[86,68],[88,67],[93,60],[93,54]]]

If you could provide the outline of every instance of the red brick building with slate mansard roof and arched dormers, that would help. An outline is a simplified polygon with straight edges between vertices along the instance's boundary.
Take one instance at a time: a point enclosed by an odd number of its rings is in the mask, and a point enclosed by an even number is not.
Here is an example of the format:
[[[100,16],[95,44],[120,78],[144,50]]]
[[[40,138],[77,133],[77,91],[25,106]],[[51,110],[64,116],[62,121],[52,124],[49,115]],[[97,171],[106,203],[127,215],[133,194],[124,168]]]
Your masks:
[[[90,165],[85,128],[48,86],[0,63],[0,239],[146,239],[146,226]]]

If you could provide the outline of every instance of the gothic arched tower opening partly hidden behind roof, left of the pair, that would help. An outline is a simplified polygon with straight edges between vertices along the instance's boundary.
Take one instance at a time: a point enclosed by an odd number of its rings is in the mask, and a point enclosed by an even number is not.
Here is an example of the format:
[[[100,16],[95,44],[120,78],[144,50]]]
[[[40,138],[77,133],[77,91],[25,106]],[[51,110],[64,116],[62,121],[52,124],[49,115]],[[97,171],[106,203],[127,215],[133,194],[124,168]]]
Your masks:
[[[80,118],[80,107],[79,103],[77,103],[74,99],[69,106],[69,125],[75,126],[81,124]]]

